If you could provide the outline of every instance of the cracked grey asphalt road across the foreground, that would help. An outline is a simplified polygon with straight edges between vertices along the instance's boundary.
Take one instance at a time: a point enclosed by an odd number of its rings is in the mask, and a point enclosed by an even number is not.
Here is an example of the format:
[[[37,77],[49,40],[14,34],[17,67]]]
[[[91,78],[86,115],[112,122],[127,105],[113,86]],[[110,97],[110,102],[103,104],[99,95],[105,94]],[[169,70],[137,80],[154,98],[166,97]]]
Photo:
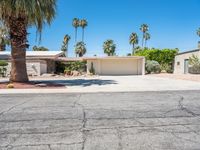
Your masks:
[[[0,150],[172,149],[200,149],[200,91],[0,95]]]

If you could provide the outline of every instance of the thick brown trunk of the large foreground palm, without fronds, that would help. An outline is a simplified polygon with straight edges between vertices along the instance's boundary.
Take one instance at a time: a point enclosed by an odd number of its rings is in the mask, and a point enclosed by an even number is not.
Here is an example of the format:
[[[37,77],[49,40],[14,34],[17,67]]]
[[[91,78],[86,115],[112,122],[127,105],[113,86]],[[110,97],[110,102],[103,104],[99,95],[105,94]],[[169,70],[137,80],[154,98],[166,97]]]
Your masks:
[[[11,38],[11,82],[27,82],[26,48],[27,23],[23,17],[12,17],[9,21]]]

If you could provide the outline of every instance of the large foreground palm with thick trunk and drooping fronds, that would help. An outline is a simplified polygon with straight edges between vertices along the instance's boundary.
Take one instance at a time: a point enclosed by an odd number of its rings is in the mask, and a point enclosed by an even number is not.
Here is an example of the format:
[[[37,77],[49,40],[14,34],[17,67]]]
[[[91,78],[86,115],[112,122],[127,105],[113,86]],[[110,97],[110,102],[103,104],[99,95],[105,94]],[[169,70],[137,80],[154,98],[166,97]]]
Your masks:
[[[1,0],[0,20],[9,30],[11,42],[12,82],[28,81],[26,69],[27,28],[36,26],[41,32],[44,23],[50,24],[55,16],[56,0]]]

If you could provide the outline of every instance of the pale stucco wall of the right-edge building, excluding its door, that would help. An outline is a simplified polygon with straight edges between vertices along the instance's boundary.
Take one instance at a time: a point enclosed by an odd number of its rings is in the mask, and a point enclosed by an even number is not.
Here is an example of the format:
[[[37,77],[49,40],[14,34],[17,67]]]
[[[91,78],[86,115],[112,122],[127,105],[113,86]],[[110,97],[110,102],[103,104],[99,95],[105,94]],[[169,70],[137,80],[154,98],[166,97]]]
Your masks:
[[[200,52],[191,52],[191,53],[185,53],[180,54],[175,57],[175,63],[174,63],[174,73],[175,74],[184,74],[184,63],[186,59],[189,59],[192,55],[200,56]]]

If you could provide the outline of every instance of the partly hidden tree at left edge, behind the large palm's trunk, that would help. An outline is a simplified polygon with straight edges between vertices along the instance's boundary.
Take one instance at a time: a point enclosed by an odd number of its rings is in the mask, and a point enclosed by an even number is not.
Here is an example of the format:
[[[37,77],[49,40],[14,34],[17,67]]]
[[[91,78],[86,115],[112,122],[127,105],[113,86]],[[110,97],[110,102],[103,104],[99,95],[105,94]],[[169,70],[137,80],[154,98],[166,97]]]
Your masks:
[[[9,43],[8,30],[3,24],[0,24],[0,51],[5,51],[6,45],[9,45]]]

